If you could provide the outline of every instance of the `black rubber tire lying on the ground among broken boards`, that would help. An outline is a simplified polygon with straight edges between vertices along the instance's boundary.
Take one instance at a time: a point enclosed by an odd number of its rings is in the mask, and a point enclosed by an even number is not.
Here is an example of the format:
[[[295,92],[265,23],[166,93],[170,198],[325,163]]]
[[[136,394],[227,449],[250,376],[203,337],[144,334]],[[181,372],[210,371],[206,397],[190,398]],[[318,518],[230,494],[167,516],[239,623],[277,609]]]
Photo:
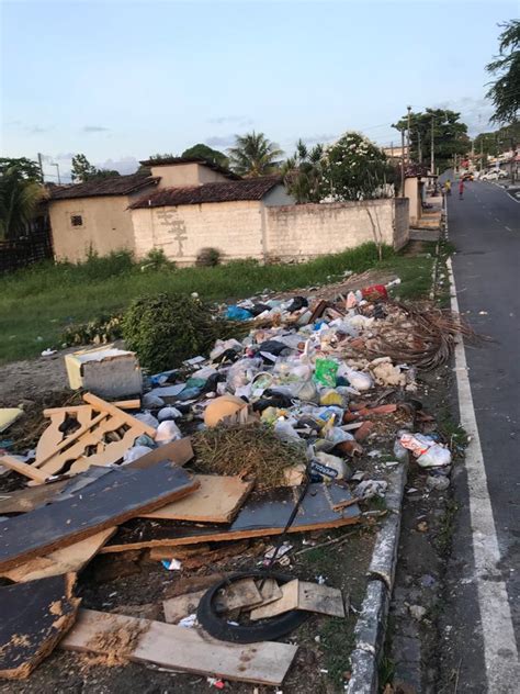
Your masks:
[[[259,624],[236,626],[228,624],[226,618],[219,617],[215,613],[215,609],[213,608],[213,598],[218,591],[228,585],[229,582],[234,583],[235,581],[239,581],[241,579],[264,578],[275,579],[282,584],[294,580],[294,577],[286,575],[285,573],[278,573],[275,571],[241,571],[239,573],[233,573],[227,579],[218,581],[218,583],[215,583],[215,585],[206,591],[199,603],[196,618],[207,634],[221,641],[231,641],[234,643],[271,641],[294,631],[296,627],[309,617],[307,612],[303,612],[302,609],[292,609],[291,612],[286,612],[278,617],[271,617],[269,620],[264,620]]]

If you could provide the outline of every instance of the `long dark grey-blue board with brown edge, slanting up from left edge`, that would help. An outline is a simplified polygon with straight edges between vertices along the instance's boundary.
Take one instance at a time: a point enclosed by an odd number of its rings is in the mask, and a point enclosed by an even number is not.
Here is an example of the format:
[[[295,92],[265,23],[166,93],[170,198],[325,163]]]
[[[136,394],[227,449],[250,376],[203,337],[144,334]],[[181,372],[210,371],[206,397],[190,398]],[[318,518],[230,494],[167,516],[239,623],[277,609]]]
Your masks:
[[[0,523],[0,571],[68,547],[154,511],[197,488],[182,468],[159,462],[147,470],[102,471],[76,494]]]

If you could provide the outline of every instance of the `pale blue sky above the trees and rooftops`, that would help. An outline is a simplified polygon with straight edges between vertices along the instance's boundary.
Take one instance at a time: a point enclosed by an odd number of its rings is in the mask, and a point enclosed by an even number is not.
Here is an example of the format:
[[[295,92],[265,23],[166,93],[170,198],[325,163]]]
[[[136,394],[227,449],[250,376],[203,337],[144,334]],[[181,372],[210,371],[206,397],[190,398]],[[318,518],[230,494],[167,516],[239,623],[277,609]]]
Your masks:
[[[0,0],[1,156],[132,172],[255,130],[287,155],[348,130],[381,145],[410,104],[488,130],[501,0]]]

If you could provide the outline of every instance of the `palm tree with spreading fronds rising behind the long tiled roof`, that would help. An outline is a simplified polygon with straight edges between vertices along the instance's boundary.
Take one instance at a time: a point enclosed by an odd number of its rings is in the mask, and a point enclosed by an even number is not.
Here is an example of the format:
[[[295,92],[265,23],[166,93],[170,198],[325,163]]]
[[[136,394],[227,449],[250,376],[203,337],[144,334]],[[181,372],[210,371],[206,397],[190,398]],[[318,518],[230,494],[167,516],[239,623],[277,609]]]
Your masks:
[[[235,147],[227,152],[230,168],[239,176],[268,176],[280,167],[278,157],[283,155],[283,150],[263,133],[252,131],[246,135],[236,135],[235,138]]]

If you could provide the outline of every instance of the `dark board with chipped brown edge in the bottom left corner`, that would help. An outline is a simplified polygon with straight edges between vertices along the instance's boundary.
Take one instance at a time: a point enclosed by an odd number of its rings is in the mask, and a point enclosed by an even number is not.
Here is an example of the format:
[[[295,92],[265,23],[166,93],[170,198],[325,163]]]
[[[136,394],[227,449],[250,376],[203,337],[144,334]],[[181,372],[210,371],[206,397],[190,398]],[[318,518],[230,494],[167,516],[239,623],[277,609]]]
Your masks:
[[[0,587],[0,678],[23,679],[72,626],[75,575]]]

